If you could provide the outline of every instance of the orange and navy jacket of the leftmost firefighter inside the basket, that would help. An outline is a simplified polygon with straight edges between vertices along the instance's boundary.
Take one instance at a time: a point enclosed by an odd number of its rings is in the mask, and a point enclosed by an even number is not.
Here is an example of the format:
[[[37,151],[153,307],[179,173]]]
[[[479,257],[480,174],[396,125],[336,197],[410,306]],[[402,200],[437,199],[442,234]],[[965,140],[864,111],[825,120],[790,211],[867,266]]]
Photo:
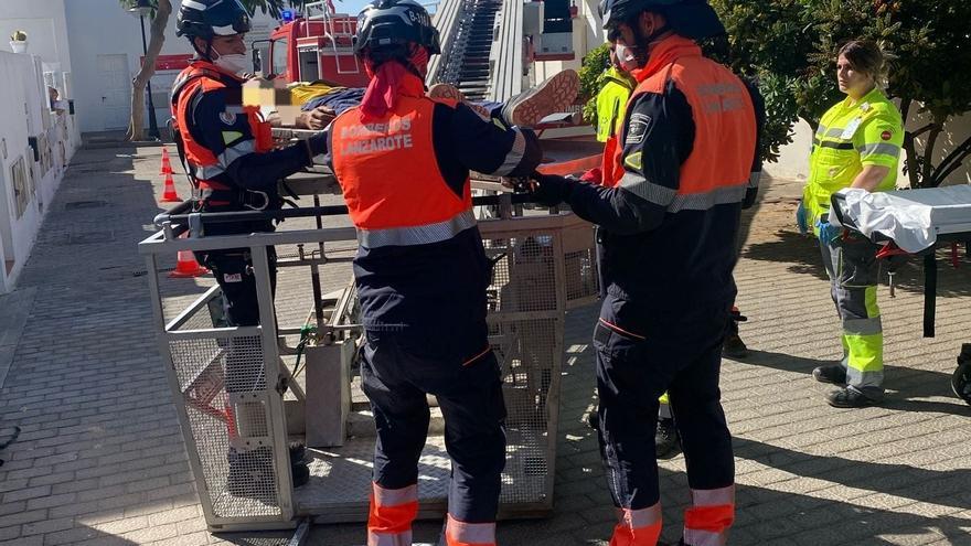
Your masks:
[[[243,107],[244,79],[198,58],[172,87],[180,153],[196,184],[199,210],[278,207],[277,183],[310,162],[305,144],[273,149],[269,124]],[[270,231],[269,222],[206,225],[211,235]]]

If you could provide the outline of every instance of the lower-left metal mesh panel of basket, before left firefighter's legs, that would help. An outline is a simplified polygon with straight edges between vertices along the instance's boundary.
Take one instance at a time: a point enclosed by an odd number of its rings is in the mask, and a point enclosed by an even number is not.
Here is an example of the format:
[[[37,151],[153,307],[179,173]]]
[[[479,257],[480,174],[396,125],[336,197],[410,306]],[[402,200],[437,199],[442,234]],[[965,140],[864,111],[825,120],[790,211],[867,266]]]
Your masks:
[[[169,346],[214,515],[280,516],[259,338]]]

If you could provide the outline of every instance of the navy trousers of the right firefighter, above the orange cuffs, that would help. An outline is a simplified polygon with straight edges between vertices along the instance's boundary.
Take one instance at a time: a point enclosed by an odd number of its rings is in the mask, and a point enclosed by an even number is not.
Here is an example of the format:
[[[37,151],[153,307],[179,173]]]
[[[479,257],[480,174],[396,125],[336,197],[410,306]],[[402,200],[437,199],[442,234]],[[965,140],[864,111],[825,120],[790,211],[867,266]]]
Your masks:
[[[650,322],[631,321],[649,314],[631,306],[608,290],[594,332],[600,451],[615,505],[641,510],[659,502],[654,430],[665,390],[691,489],[730,485],[735,461],[718,388],[728,304]]]

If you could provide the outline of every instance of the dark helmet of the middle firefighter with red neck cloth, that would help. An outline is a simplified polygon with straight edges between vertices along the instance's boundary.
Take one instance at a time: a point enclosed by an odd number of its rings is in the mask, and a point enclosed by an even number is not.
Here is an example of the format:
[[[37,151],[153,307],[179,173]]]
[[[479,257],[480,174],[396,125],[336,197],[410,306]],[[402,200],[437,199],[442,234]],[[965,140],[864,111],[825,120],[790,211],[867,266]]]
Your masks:
[[[416,43],[429,55],[441,53],[431,15],[415,0],[374,0],[358,14],[354,53]]]

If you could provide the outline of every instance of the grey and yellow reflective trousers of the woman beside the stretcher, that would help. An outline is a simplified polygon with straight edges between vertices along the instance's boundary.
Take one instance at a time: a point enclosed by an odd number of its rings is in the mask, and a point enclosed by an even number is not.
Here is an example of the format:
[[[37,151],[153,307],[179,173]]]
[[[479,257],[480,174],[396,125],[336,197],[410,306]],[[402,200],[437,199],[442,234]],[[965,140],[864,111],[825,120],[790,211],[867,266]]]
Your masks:
[[[846,383],[877,387],[884,379],[884,334],[876,290],[877,246],[862,237],[820,244],[830,291],[843,324]]]

